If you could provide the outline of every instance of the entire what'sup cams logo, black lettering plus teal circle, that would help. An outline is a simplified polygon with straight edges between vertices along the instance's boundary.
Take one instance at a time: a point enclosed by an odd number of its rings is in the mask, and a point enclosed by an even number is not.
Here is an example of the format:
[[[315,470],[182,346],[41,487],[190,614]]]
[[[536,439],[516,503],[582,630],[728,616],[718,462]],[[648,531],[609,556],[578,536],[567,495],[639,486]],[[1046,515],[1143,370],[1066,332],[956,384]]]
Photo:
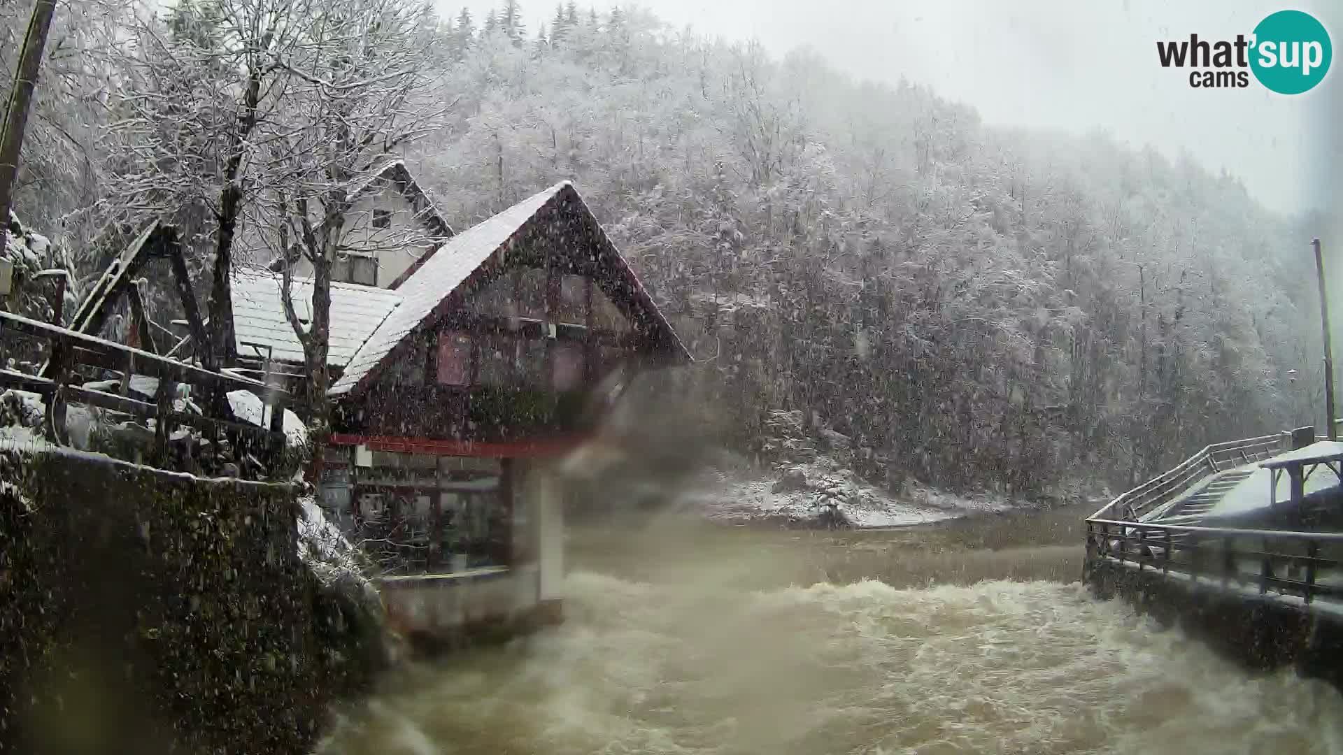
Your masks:
[[[1279,94],[1301,94],[1324,79],[1334,47],[1324,24],[1303,11],[1279,11],[1234,40],[1189,39],[1156,43],[1163,69],[1193,69],[1195,89],[1246,87],[1250,74]]]

